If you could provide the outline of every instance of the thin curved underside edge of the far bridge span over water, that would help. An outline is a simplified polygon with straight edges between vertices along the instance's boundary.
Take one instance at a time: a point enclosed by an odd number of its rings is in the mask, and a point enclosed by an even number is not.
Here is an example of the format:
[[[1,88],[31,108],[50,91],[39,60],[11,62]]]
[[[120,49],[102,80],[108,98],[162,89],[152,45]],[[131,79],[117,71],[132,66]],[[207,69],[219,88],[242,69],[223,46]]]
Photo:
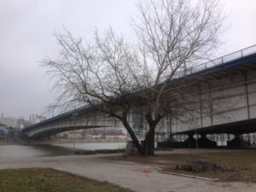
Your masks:
[[[44,130],[40,131],[36,134],[33,134],[30,136],[32,139],[38,139],[42,137],[50,137],[52,135],[55,135],[60,132],[65,131],[75,131],[75,130],[81,130],[81,129],[92,129],[92,128],[102,128],[102,127],[108,127],[108,126],[102,126],[102,125],[77,125],[77,126],[65,126],[65,127],[58,127],[58,128],[51,128],[50,130]]]

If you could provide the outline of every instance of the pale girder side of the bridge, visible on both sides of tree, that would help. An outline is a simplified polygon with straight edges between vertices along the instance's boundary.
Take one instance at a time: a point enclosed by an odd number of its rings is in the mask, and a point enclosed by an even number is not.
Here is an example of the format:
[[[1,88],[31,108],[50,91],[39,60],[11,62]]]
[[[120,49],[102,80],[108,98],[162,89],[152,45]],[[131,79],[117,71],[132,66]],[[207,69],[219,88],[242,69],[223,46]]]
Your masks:
[[[195,84],[191,84],[185,89],[188,98],[186,98],[187,100],[183,105],[185,108],[195,108],[196,113],[194,115],[189,116],[187,113],[183,113],[181,118],[172,118],[172,115],[169,115],[160,121],[156,131],[173,134],[224,125],[230,122],[256,119],[256,72],[250,70],[251,67],[256,67],[256,54],[254,53],[250,58],[241,58],[241,60],[230,61],[226,64],[215,67],[211,73],[199,74],[199,79],[202,80],[196,80]],[[239,70],[241,66],[244,68],[242,71]],[[233,73],[234,71],[236,73]],[[218,79],[208,81],[207,77],[211,76],[212,73],[220,75]],[[222,75],[223,73],[225,75]],[[187,82],[186,79],[185,81]],[[82,125],[123,127],[118,120],[109,118],[107,115],[96,112],[91,108],[84,108],[78,112],[78,116],[73,117],[72,112],[65,114],[66,116],[62,119],[53,118],[50,123],[46,121],[42,125],[28,127],[26,133],[32,137],[33,135],[40,135],[40,132],[43,133],[44,130],[59,129],[61,131],[65,130],[65,127]],[[74,113],[76,113],[76,110],[74,110]],[[133,126],[134,122],[131,114],[129,115],[129,122]],[[145,119],[142,127],[143,131],[148,129]],[[233,127],[231,128],[233,129]],[[247,131],[255,131],[253,127],[247,129]],[[214,131],[216,130],[212,129],[211,132],[214,133]],[[240,131],[243,133],[245,129]],[[233,132],[229,130],[227,133]]]

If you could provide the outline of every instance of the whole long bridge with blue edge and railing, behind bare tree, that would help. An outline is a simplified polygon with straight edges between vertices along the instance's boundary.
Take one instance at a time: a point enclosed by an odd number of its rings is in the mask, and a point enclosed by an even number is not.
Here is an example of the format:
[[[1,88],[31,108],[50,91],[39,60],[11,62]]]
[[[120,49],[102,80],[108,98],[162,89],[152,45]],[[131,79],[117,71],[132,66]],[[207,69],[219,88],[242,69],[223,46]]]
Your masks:
[[[189,99],[184,105],[197,106],[197,113],[193,117],[184,113],[182,120],[167,116],[160,121],[157,133],[190,143],[195,142],[195,135],[200,135],[201,140],[211,143],[214,134],[232,135],[235,139],[256,132],[256,45],[186,68],[172,82],[189,83],[194,79],[195,83],[186,90]],[[137,132],[147,131],[143,116],[130,113],[128,119]],[[45,137],[61,131],[98,127],[123,125],[107,114],[84,106],[23,131],[28,137]]]

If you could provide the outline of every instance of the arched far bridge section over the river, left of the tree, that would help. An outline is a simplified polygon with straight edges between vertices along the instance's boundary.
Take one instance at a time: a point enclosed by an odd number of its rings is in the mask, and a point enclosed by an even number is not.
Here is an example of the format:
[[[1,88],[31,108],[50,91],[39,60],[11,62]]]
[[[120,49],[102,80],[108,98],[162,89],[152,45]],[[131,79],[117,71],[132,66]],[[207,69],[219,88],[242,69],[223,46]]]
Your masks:
[[[38,138],[49,137],[63,131],[117,126],[116,119],[84,106],[27,126],[23,129],[23,133],[27,137]]]

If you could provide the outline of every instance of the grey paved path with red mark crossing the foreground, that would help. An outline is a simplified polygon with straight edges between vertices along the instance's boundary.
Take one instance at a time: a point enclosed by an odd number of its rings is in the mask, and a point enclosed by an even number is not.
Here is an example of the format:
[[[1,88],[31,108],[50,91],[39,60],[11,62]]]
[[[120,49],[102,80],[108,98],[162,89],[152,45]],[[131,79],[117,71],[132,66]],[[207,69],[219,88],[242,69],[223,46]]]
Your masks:
[[[49,167],[100,181],[108,181],[138,192],[256,192],[253,183],[219,183],[156,172],[156,166],[107,160],[116,154],[59,156],[3,160],[0,169]]]

